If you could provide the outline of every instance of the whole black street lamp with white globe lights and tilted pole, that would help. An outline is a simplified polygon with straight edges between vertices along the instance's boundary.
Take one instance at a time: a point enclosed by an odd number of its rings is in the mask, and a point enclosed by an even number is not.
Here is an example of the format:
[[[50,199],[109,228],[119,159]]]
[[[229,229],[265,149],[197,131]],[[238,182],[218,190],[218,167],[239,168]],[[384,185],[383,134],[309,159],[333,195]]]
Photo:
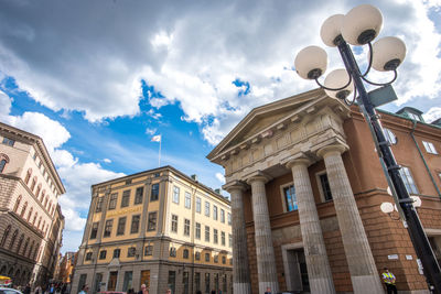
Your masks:
[[[405,43],[392,36],[387,36],[372,44],[383,25],[381,12],[369,4],[353,8],[347,14],[335,14],[329,18],[322,25],[321,37],[323,43],[331,47],[337,47],[345,65],[344,69],[336,69],[327,75],[324,85],[319,81],[327,65],[326,52],[319,46],[309,46],[299,52],[295,57],[295,70],[302,78],[314,79],[326,94],[333,98],[342,99],[347,105],[357,101],[373,134],[376,150],[378,151],[381,166],[389,185],[395,193],[395,202],[408,226],[408,232],[413,243],[418,258],[421,260],[429,287],[434,293],[441,294],[440,265],[433,254],[429,240],[424,233],[413,199],[401,179],[401,168],[395,161],[390,143],[383,132],[379,116],[369,100],[364,83],[374,86],[386,86],[397,78],[397,67],[406,56]],[[365,73],[358,68],[351,46],[367,45],[369,48],[368,65]],[[388,83],[374,83],[367,78],[369,70],[392,72]],[[349,98],[353,92],[353,97]],[[358,92],[358,96],[357,96]]]

